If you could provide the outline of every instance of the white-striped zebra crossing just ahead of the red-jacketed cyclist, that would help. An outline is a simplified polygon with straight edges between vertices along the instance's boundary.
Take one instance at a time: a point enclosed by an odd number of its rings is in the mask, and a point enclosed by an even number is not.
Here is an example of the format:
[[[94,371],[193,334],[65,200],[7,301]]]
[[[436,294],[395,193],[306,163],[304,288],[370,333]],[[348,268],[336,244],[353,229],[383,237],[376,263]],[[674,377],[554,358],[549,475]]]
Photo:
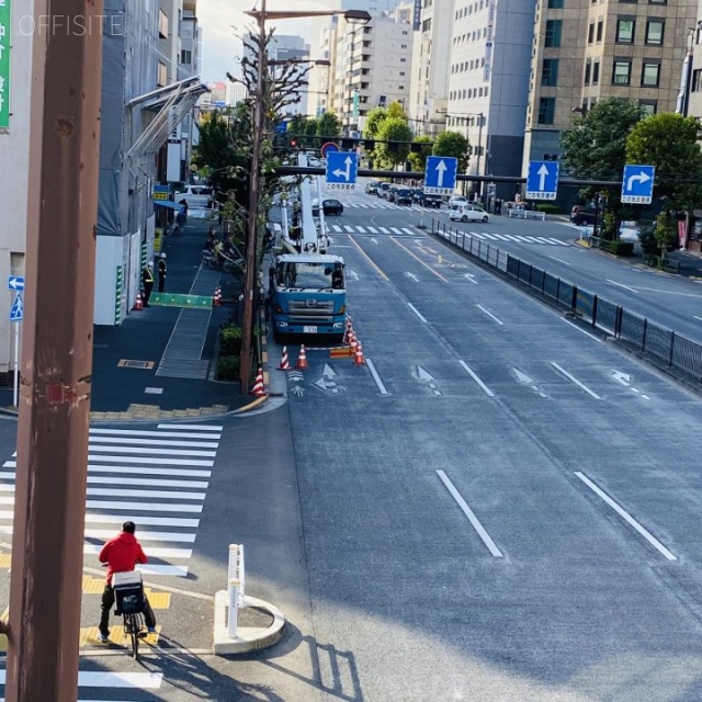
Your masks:
[[[83,553],[95,556],[126,520],[149,563],[146,575],[185,577],[222,427],[162,423],[154,430],[91,428]],[[0,471],[0,533],[12,533],[16,452]],[[171,516],[172,514],[172,516]],[[1,702],[1,700],[0,700]]]

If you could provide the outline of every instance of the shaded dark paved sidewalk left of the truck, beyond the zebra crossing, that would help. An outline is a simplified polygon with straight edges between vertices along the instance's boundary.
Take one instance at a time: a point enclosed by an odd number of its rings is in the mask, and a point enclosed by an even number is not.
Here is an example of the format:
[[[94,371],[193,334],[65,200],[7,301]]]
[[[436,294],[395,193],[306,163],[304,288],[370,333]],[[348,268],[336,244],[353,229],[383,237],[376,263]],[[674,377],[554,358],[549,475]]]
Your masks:
[[[205,417],[254,399],[241,395],[238,383],[214,381],[218,329],[238,313],[239,291],[230,274],[200,268],[210,225],[190,218],[182,235],[166,237],[165,292],[214,295],[219,284],[225,304],[184,309],[151,302],[118,327],[95,327],[93,420]],[[132,363],[125,366],[125,361]]]

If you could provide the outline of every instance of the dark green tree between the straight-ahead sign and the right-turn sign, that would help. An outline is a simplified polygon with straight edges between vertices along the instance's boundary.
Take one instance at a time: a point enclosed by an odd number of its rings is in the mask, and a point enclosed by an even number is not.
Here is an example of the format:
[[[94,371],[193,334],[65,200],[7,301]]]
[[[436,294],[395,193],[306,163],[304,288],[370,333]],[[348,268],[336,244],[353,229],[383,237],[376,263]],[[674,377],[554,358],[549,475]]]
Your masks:
[[[621,181],[626,163],[626,138],[646,112],[632,100],[608,98],[574,120],[575,128],[561,138],[561,163],[581,180]],[[614,212],[621,210],[621,189],[584,188],[580,196],[592,200],[603,194]]]

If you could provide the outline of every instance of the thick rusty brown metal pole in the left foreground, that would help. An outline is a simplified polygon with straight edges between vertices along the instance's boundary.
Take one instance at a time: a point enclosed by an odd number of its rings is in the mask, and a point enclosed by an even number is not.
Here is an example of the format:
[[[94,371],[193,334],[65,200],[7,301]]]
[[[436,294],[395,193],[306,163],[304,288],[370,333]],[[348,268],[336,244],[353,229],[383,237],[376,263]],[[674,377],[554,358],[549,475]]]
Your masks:
[[[7,702],[77,699],[102,4],[34,1]]]

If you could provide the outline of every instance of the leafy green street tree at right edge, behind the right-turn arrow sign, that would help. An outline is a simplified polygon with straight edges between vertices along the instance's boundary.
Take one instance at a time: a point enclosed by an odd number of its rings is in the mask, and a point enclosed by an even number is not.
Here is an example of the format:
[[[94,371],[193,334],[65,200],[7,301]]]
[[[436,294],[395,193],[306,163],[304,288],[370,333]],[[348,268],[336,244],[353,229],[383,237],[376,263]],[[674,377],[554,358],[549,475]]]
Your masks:
[[[656,167],[654,194],[666,210],[690,211],[702,199],[702,125],[661,112],[639,122],[626,139],[626,160]],[[665,238],[665,237],[661,237]]]

